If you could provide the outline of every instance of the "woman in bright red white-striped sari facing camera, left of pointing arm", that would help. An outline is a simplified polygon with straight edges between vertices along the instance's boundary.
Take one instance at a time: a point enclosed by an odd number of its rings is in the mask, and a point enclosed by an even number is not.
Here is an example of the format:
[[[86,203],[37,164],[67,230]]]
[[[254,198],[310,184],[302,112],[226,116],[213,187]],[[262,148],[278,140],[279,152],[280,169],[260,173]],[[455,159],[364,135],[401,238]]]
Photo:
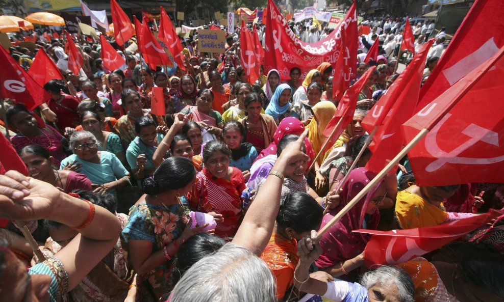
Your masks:
[[[231,150],[221,141],[203,148],[205,168],[196,175],[188,200],[191,208],[212,215],[217,222],[215,235],[227,238],[236,234],[243,218],[241,193],[245,180],[240,169],[230,167]]]

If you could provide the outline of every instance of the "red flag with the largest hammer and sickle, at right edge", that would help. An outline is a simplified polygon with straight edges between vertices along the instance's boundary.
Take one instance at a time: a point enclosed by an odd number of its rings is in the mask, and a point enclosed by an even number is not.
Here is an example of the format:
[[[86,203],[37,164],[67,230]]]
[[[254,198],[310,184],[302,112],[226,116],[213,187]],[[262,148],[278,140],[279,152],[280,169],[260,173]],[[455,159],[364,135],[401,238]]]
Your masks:
[[[403,125],[407,141],[430,130],[408,153],[419,185],[504,183],[503,78],[504,47]]]

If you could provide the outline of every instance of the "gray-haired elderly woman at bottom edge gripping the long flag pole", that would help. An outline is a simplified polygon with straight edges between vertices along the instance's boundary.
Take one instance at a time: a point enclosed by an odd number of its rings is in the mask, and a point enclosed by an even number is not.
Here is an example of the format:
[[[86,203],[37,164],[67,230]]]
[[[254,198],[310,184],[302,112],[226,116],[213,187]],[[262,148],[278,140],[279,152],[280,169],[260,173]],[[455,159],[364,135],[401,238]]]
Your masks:
[[[299,266],[294,273],[294,285],[299,291],[342,302],[414,302],[415,285],[407,272],[396,266],[380,266],[364,273],[361,284],[342,280],[323,282],[310,277],[309,268],[320,256],[322,248],[316,242],[317,232],[301,239],[297,245]]]

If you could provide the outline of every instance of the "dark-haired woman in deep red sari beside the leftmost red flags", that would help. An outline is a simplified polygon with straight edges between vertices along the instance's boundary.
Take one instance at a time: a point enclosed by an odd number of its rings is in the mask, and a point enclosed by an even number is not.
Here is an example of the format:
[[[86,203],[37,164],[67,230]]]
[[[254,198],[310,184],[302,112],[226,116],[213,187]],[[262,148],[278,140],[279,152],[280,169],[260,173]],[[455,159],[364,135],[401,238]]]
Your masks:
[[[63,133],[66,127],[75,128],[79,125],[77,106],[79,100],[71,95],[62,93],[64,86],[56,80],[50,80],[44,85],[44,90],[51,95],[47,105],[56,114],[56,126]]]

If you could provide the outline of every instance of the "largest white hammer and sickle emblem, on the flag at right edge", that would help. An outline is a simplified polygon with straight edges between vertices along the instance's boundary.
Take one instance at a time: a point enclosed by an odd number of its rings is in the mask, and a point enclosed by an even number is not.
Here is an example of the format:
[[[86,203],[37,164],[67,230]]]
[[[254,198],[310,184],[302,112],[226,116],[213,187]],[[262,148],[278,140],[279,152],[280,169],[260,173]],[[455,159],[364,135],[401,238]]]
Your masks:
[[[446,114],[441,121],[429,132],[425,137],[425,149],[432,156],[437,159],[431,162],[426,168],[427,172],[434,172],[441,168],[445,163],[463,163],[463,164],[492,164],[504,160],[504,155],[496,156],[492,158],[475,158],[475,157],[459,157],[458,155],[469,147],[473,146],[475,143],[482,141],[487,144],[498,147],[499,146],[499,136],[498,133],[489,129],[485,129],[481,126],[470,124],[462,133],[469,136],[470,139],[465,143],[461,144],[459,147],[451,150],[450,152],[445,152],[441,150],[436,142],[437,133],[440,127],[450,118],[451,114]]]

